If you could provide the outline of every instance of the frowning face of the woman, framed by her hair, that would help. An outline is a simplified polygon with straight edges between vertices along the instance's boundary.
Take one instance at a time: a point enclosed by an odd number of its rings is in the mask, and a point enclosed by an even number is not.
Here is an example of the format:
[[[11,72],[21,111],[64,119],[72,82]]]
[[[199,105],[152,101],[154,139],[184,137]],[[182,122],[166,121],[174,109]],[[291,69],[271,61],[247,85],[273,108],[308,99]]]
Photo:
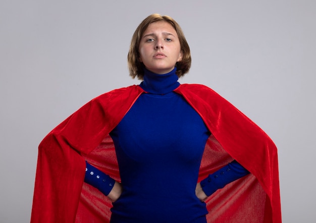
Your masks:
[[[139,60],[156,74],[166,74],[182,60],[181,46],[176,30],[168,22],[149,24],[139,44]]]

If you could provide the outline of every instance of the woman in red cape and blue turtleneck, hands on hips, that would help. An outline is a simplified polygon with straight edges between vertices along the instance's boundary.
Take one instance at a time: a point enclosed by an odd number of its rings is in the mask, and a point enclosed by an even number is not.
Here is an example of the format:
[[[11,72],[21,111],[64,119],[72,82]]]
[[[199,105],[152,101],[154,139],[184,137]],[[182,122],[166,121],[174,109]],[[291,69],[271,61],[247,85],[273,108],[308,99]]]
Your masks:
[[[190,48],[153,14],[128,53],[139,85],[102,94],[40,143],[32,222],[281,222],[277,149],[232,104],[180,84]]]

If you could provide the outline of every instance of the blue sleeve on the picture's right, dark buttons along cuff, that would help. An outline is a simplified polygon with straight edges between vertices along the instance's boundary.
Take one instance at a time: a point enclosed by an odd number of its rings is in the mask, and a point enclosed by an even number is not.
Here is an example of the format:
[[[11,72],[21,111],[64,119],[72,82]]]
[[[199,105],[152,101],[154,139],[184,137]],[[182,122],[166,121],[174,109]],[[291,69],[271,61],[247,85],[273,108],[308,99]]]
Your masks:
[[[240,165],[239,162],[234,160],[202,180],[201,187],[204,193],[207,196],[210,196],[218,189],[225,187],[227,184],[238,180],[247,174],[249,174],[249,171]]]

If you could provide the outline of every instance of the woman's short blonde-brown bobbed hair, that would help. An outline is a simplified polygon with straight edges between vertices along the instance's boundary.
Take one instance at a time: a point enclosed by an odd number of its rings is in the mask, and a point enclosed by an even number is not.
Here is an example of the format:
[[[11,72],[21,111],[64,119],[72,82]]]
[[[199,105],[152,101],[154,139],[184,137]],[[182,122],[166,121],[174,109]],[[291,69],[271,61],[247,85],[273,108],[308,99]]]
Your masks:
[[[180,47],[181,47],[181,51],[183,55],[182,55],[182,60],[176,63],[176,67],[177,67],[176,74],[178,75],[178,77],[181,77],[185,75],[186,73],[188,73],[190,70],[190,67],[191,67],[190,47],[185,39],[185,36],[179,24],[170,16],[161,16],[160,14],[152,14],[148,16],[147,18],[145,18],[139,24],[131,40],[129,52],[127,55],[127,63],[128,63],[130,76],[132,76],[132,78],[137,77],[138,79],[143,80],[144,64],[139,61],[139,51],[138,51],[140,40],[145,30],[149,26],[149,24],[154,23],[154,22],[160,22],[160,21],[165,21],[171,24],[172,27],[176,30],[179,41],[180,41]]]

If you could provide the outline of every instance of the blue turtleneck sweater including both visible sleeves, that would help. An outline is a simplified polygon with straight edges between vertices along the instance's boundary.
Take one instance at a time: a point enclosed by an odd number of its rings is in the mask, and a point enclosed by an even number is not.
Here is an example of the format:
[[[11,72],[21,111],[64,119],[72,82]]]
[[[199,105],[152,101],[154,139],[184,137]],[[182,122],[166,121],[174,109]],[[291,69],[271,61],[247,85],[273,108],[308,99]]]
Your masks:
[[[206,222],[205,203],[195,195],[201,157],[210,132],[179,94],[175,73],[145,70],[143,93],[110,133],[123,193],[111,222]],[[87,163],[85,182],[108,195],[114,180]],[[92,175],[91,175],[92,173]],[[206,195],[248,172],[236,161],[201,182]],[[218,177],[220,176],[220,177]]]

